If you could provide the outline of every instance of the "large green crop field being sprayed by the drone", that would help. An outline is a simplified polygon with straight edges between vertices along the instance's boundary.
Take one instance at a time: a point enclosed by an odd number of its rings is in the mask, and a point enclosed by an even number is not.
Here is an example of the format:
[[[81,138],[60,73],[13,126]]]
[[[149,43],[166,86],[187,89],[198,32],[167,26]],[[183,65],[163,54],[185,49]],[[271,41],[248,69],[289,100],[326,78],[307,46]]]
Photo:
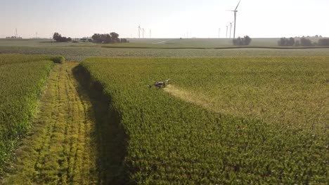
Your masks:
[[[329,180],[328,107],[324,107],[328,104],[328,61],[328,57],[90,58],[81,66],[90,76],[91,87],[101,85],[110,101],[109,114],[119,118],[128,137],[122,164],[127,183],[325,184]],[[166,78],[195,96],[178,98],[167,90],[148,87]],[[248,96],[257,100],[257,88],[266,89],[270,83],[278,87],[272,91],[280,92],[276,101],[281,102],[271,106],[270,99],[265,106],[272,113],[286,112],[288,120],[252,114],[260,106],[257,101],[250,103],[254,108],[244,105]],[[295,115],[294,107],[287,109],[285,104],[298,104],[302,97],[285,99],[294,90],[303,95],[307,90],[324,93],[319,102],[302,100],[322,105],[321,114],[307,120],[290,116]],[[271,90],[264,93],[276,95]],[[206,99],[198,100],[198,95]],[[228,100],[219,102],[217,95]],[[209,106],[218,103],[243,107],[245,114]],[[309,109],[299,111],[313,114]]]

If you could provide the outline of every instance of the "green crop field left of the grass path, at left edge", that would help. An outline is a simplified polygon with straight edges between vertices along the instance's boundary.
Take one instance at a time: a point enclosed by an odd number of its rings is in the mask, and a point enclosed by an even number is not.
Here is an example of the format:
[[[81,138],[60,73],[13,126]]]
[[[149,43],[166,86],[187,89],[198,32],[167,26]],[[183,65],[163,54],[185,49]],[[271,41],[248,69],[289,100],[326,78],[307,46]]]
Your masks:
[[[20,137],[31,128],[53,57],[0,55],[0,172]]]

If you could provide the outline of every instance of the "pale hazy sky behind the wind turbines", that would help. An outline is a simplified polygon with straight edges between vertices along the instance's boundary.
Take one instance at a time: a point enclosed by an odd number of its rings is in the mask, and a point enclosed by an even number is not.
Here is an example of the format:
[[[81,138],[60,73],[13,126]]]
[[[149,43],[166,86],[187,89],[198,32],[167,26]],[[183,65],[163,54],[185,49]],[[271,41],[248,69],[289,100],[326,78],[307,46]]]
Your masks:
[[[82,37],[117,32],[153,38],[226,36],[238,0],[0,0],[0,37]],[[329,0],[241,0],[236,36],[329,36]],[[233,28],[232,28],[233,30]],[[233,31],[232,31],[233,36]]]

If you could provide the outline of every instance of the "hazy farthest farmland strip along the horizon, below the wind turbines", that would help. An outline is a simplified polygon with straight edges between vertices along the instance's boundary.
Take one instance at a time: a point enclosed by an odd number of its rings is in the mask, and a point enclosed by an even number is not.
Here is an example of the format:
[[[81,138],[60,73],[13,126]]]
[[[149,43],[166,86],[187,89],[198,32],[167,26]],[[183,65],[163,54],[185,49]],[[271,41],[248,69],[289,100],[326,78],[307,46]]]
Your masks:
[[[254,38],[252,47],[278,47],[278,38]],[[311,38],[312,41],[318,41]],[[232,39],[128,39],[130,43],[96,44],[89,42],[56,43],[51,39],[0,39],[0,46],[87,46],[87,47],[131,47],[131,48],[228,48]]]

